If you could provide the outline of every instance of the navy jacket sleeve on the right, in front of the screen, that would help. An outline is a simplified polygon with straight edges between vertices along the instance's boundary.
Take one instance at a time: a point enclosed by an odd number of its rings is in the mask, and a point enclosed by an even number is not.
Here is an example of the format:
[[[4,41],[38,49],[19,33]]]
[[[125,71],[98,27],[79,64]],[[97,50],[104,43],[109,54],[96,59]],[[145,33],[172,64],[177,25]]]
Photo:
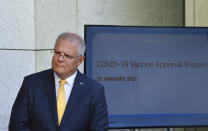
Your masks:
[[[107,131],[108,130],[108,109],[105,100],[104,87],[101,86],[95,95],[95,103],[93,108],[93,116],[91,119],[91,131]]]

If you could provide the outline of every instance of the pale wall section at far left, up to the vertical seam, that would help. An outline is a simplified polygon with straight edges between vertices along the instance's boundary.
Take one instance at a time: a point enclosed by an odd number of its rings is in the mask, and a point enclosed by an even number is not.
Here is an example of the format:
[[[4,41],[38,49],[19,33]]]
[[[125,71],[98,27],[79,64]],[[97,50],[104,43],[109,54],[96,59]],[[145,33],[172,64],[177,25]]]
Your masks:
[[[22,79],[35,72],[34,51],[22,50],[35,49],[33,0],[1,0],[0,39],[0,131],[7,131]]]

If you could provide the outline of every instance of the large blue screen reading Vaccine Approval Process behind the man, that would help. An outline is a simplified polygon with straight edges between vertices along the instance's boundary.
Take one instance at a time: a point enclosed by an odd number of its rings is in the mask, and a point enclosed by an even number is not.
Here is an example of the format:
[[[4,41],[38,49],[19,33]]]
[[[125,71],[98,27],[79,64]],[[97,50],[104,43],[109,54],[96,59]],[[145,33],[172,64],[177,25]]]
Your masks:
[[[208,126],[208,28],[85,26],[110,128]]]

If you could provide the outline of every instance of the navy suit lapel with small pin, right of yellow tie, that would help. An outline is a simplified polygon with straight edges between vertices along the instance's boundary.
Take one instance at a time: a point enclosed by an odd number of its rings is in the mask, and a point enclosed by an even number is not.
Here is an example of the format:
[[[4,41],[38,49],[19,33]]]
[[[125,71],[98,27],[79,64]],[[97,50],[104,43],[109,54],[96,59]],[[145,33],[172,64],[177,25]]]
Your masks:
[[[74,86],[72,88],[70,98],[66,105],[66,109],[61,121],[61,125],[63,125],[65,121],[67,121],[67,119],[70,117],[74,106],[76,105],[78,99],[80,98],[80,95],[82,94],[83,86],[84,86],[83,75],[79,71],[77,71],[77,76],[75,77],[74,80]]]

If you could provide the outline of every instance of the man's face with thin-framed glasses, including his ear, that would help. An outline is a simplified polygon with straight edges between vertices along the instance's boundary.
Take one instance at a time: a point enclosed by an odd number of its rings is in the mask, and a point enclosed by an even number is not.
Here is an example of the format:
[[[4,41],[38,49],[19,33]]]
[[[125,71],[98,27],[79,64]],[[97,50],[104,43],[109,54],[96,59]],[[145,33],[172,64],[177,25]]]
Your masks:
[[[77,41],[57,40],[52,59],[52,68],[61,79],[71,76],[83,62],[84,56],[78,56],[78,49]]]

